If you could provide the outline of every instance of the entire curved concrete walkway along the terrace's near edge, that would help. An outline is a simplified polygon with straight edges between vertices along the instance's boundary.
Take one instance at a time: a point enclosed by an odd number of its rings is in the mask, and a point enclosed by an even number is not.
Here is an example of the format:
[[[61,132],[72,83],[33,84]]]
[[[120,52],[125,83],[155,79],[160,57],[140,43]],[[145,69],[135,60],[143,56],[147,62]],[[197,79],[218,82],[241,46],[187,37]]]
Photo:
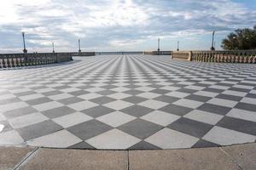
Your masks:
[[[0,147],[0,170],[9,169],[256,169],[256,144],[184,150],[68,150]]]

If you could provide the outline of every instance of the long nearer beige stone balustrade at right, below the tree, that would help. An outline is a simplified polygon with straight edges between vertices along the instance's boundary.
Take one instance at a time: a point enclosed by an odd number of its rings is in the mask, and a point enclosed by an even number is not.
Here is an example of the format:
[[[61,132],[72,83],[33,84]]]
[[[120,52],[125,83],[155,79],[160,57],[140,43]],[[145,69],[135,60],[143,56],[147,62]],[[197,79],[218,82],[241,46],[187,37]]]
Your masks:
[[[201,62],[256,63],[256,50],[173,51],[172,58]]]

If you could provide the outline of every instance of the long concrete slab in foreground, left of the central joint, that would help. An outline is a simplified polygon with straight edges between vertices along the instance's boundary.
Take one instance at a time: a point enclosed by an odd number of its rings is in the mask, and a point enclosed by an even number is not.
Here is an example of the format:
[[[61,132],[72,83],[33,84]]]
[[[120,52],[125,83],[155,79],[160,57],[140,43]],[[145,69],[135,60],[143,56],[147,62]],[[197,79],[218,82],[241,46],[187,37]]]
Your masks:
[[[20,170],[123,170],[127,166],[128,155],[125,151],[39,149]]]

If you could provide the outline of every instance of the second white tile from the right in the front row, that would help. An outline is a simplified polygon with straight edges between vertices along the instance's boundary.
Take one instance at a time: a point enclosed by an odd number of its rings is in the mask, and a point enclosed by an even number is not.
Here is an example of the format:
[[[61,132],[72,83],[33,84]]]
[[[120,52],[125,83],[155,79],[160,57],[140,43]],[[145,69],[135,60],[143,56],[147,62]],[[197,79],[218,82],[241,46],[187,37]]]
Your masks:
[[[170,128],[164,128],[145,139],[146,142],[154,144],[161,149],[190,148],[199,139],[185,133],[180,133]]]

